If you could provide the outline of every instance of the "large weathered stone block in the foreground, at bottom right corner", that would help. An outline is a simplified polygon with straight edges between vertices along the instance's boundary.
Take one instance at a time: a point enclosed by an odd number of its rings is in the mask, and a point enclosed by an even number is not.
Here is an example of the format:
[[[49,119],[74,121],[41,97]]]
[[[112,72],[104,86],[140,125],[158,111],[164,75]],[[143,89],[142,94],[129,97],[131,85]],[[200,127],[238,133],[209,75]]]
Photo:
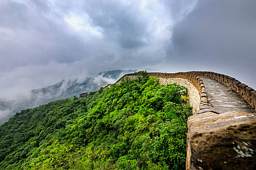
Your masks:
[[[255,113],[205,112],[187,124],[186,170],[255,170]]]

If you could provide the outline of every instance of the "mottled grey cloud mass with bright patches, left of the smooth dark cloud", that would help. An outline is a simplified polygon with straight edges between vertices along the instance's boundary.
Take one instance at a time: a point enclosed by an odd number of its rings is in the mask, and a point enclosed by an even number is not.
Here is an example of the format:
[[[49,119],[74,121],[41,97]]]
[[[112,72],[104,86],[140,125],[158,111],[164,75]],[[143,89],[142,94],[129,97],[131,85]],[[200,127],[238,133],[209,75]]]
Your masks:
[[[157,1],[1,0],[0,97],[160,63],[172,25],[162,9]]]

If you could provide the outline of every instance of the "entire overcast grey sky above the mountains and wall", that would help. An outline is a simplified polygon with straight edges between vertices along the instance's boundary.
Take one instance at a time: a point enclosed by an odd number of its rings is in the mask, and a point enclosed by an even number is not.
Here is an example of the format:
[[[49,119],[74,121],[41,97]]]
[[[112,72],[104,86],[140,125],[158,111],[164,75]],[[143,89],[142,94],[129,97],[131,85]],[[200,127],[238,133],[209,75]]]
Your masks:
[[[0,0],[0,98],[102,70],[209,70],[256,89],[256,0]]]

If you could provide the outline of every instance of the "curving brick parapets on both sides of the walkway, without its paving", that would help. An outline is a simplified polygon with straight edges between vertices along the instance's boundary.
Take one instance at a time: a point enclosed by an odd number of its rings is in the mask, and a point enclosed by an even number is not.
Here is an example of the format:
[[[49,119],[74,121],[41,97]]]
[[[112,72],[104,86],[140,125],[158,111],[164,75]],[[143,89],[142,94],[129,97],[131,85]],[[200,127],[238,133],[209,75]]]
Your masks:
[[[187,79],[192,85],[195,86],[195,88],[197,89],[200,95],[200,104],[198,104],[200,107],[199,109],[196,109],[197,110],[196,114],[205,113],[208,111],[218,114],[218,112],[214,110],[213,107],[208,103],[205,85],[203,84],[203,81],[199,77],[209,77],[211,79],[217,80],[220,83],[223,83],[224,85],[228,85],[234,91],[236,91],[236,93],[238,93],[256,112],[256,91],[253,88],[249,87],[248,85],[242,84],[241,82],[239,82],[233,77],[230,77],[224,74],[219,74],[216,72],[210,72],[210,71],[189,71],[189,72],[177,72],[177,73],[149,72],[148,74],[150,76],[163,78],[163,79],[171,79],[171,78]],[[137,77],[137,73],[125,74],[115,84],[120,84],[121,80],[125,77],[134,79]],[[193,105],[195,106],[197,104],[193,104]]]

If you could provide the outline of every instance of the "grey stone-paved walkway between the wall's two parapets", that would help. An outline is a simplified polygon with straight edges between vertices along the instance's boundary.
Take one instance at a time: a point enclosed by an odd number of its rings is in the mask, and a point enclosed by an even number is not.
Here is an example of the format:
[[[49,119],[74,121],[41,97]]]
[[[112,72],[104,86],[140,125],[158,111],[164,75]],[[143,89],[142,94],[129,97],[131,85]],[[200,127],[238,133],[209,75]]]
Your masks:
[[[245,113],[254,113],[243,99],[230,87],[211,78],[200,77],[200,79],[203,80],[206,87],[209,104],[211,104],[219,113],[225,113],[233,110]]]

